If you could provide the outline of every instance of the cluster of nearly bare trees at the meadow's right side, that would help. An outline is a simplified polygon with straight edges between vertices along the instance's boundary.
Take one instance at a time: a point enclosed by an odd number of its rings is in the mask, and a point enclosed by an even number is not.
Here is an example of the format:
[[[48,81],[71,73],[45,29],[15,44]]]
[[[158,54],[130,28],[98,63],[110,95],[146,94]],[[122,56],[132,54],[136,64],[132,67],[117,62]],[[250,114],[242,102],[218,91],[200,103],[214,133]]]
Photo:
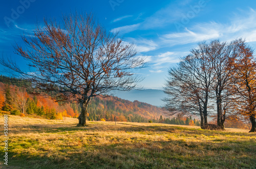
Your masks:
[[[219,129],[225,121],[256,122],[256,63],[244,40],[202,42],[191,49],[177,67],[170,68],[164,92],[169,115],[200,117],[205,128],[208,117]]]

